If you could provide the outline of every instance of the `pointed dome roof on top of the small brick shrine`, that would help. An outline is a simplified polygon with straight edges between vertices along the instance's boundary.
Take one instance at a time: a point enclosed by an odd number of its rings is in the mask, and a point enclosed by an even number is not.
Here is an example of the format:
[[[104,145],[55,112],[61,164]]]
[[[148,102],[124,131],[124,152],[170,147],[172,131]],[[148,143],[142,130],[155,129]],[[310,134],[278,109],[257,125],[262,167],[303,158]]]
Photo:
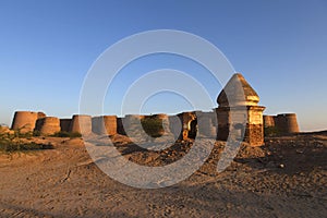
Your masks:
[[[241,73],[235,73],[218,95],[219,106],[256,106],[259,96]]]

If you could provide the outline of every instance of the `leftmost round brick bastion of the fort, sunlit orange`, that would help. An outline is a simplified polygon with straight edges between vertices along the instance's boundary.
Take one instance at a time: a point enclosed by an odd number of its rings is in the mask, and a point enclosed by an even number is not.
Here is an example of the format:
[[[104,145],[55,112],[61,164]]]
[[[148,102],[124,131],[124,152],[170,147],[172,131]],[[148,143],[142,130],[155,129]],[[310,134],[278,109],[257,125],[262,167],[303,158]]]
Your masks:
[[[43,112],[33,111],[16,111],[12,122],[12,130],[20,130],[21,133],[33,132],[35,129],[36,120],[44,118]]]

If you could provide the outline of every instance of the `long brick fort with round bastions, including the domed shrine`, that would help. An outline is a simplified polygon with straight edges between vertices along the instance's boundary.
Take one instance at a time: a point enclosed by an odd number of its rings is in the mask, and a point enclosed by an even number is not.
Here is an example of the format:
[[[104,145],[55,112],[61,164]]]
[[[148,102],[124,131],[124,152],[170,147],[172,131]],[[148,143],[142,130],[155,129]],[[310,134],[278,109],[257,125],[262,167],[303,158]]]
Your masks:
[[[117,116],[74,114],[71,119],[58,119],[47,117],[43,112],[16,111],[11,129],[22,133],[37,131],[40,135],[53,135],[58,132],[129,135],[130,130],[140,130],[145,119],[153,119],[161,122],[162,128],[158,135],[173,134],[179,140],[196,136],[213,137],[218,141],[243,138],[251,146],[264,144],[265,128],[276,128],[286,134],[299,132],[294,113],[263,116],[265,107],[258,106],[259,96],[240,73],[230,78],[218,95],[217,102],[218,108],[208,112],[189,111],[175,116],[128,114],[118,118]]]

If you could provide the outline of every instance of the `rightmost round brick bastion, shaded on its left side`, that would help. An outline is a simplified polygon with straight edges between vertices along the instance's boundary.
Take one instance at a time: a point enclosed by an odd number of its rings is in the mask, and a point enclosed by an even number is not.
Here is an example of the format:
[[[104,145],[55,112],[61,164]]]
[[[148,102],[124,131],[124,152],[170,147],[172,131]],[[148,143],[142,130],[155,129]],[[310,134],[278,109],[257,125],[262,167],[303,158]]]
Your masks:
[[[295,113],[278,114],[274,121],[280,133],[290,134],[300,132]]]

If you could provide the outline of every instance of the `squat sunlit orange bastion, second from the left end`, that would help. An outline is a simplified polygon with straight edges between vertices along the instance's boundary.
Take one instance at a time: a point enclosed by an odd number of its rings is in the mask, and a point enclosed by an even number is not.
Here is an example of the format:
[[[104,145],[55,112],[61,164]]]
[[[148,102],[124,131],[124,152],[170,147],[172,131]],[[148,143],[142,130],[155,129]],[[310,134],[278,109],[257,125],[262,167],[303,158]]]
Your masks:
[[[39,131],[41,135],[52,135],[60,132],[60,120],[55,117],[40,118],[36,121],[35,130]]]

